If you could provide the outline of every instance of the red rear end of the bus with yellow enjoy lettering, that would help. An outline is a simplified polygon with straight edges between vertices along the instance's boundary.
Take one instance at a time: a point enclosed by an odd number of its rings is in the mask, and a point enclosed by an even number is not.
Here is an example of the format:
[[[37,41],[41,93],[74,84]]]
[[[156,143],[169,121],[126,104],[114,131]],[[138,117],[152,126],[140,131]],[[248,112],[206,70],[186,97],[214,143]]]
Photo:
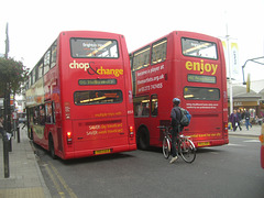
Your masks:
[[[176,32],[175,48],[179,58],[174,59],[175,97],[193,116],[184,129],[197,147],[229,143],[228,92],[226,62],[219,38],[204,34]],[[182,46],[180,48],[178,46]]]

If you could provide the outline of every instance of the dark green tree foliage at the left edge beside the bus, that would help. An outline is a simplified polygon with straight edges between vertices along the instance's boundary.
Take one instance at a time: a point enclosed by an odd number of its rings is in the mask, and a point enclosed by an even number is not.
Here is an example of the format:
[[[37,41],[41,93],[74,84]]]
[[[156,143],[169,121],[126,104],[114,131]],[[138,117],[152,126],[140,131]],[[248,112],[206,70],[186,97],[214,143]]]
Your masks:
[[[0,96],[3,96],[7,89],[10,89],[12,94],[20,94],[28,70],[22,62],[0,57]]]

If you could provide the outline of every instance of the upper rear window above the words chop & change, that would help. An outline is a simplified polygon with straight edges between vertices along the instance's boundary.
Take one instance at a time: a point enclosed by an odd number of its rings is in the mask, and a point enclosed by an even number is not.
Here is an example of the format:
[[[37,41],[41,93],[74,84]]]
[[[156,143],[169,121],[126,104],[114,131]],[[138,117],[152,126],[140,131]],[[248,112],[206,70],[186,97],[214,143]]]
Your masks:
[[[114,40],[70,38],[74,58],[118,58],[118,42]]]

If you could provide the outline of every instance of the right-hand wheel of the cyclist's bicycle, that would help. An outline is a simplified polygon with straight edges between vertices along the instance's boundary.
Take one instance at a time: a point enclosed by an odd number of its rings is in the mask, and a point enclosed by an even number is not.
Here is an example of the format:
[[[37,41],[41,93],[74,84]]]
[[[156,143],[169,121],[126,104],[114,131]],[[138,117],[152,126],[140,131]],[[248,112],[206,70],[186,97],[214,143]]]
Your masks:
[[[187,163],[193,163],[196,158],[195,144],[190,140],[184,139],[180,141],[179,145],[179,153],[183,160]]]

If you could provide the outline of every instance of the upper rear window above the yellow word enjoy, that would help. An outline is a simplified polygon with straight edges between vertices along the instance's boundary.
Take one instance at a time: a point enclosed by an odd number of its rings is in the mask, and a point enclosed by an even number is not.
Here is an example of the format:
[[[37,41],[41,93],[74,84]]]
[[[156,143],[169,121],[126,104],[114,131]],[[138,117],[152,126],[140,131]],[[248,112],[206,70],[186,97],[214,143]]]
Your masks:
[[[185,56],[218,59],[216,43],[182,37],[182,47]]]

